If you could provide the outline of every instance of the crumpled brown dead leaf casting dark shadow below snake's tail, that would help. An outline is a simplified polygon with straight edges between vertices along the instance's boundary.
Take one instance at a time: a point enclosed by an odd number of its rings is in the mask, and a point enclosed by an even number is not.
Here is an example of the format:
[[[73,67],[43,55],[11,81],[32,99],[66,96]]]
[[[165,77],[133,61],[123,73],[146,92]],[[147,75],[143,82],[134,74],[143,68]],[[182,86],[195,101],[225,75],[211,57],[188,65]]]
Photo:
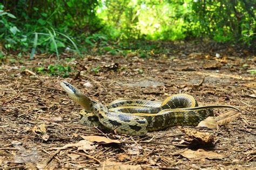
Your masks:
[[[207,145],[212,144],[215,140],[215,136],[208,132],[199,132],[197,130],[191,130],[187,128],[179,128],[185,133],[184,140],[192,145]]]

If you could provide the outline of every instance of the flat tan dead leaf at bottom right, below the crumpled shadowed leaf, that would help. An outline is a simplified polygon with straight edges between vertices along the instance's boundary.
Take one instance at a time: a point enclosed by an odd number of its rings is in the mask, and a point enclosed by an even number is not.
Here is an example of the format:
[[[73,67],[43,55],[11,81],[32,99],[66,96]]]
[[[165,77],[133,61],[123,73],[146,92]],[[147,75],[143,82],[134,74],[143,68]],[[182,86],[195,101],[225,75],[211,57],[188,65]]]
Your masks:
[[[223,159],[224,155],[212,152],[205,151],[203,149],[198,149],[197,151],[186,150],[183,153],[180,153],[183,157],[189,160],[200,160],[200,159]]]

